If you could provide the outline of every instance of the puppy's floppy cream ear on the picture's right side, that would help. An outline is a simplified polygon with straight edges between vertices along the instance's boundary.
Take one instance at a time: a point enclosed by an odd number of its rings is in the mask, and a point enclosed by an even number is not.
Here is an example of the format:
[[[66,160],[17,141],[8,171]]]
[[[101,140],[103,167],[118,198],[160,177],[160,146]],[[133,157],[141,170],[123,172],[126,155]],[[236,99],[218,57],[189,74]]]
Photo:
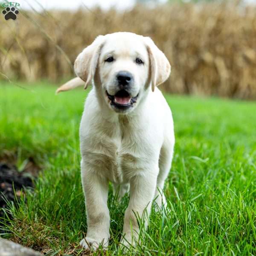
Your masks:
[[[145,44],[148,49],[150,72],[151,72],[151,87],[154,88],[162,84],[168,79],[171,73],[171,65],[160,49],[154,44],[153,40],[145,37]]]

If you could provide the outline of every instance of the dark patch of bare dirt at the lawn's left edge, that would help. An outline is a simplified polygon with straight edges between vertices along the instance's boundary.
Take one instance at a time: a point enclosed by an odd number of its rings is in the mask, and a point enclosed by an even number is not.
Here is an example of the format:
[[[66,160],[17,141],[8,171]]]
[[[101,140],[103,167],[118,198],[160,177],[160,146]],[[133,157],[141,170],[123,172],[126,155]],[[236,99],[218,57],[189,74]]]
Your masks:
[[[15,201],[15,198],[19,201],[24,188],[33,188],[40,169],[32,157],[23,162],[21,171],[15,165],[13,157],[0,159],[0,218],[4,215],[3,209],[7,207],[7,201]]]

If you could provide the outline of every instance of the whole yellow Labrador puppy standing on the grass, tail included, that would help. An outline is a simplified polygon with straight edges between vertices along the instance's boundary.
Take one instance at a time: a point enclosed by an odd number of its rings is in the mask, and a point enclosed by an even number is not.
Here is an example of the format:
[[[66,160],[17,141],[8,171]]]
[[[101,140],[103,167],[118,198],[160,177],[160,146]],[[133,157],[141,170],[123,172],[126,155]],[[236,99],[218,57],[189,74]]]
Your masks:
[[[93,83],[80,125],[81,177],[87,212],[84,248],[108,246],[108,182],[121,198],[130,189],[122,244],[138,238],[137,216],[152,201],[166,203],[164,181],[175,143],[172,113],[157,85],[170,74],[151,38],[129,32],[100,35],[77,57],[78,76],[57,92]],[[147,218],[145,219],[147,225]],[[131,228],[132,227],[132,228]]]

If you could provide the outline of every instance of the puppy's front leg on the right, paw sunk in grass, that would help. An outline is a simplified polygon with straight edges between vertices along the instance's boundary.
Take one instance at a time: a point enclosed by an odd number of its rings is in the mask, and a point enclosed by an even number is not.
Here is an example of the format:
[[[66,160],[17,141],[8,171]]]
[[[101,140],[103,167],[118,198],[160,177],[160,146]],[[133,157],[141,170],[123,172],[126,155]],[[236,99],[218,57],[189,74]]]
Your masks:
[[[156,172],[145,172],[145,174],[135,176],[131,179],[130,201],[125,211],[123,239],[121,241],[121,244],[127,247],[129,247],[130,244],[136,244],[138,234],[140,232],[140,227],[137,223],[136,215],[140,218],[145,217],[143,219],[143,221],[145,221],[145,228],[148,225],[148,217],[150,214],[151,204],[156,189],[157,174],[158,169],[156,170]],[[146,214],[143,215],[143,212],[145,212],[145,210]]]

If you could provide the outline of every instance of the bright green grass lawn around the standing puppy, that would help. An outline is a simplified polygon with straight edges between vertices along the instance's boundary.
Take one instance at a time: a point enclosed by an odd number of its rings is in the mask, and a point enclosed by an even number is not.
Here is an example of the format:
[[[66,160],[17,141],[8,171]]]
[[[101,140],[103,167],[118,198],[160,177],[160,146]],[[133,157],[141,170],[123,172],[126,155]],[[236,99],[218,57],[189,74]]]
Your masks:
[[[79,173],[79,121],[86,92],[55,96],[39,83],[0,86],[0,154],[44,165],[5,237],[49,255],[85,255],[84,196]],[[44,87],[42,86],[44,85]],[[165,193],[171,211],[151,214],[137,255],[256,255],[255,102],[170,96],[175,155]],[[110,185],[111,240],[118,254],[128,196],[118,204]],[[69,255],[70,255],[69,254]],[[100,253],[99,253],[100,254]]]

